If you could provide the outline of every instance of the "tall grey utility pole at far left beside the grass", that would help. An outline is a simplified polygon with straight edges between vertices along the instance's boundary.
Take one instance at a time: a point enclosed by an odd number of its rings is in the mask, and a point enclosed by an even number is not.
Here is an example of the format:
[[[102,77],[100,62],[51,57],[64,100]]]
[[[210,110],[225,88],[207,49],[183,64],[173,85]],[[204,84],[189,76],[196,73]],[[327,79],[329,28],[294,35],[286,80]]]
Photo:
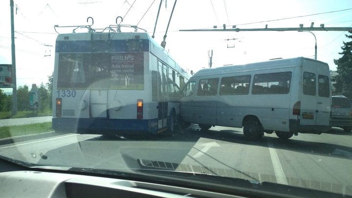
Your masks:
[[[12,54],[12,114],[17,114],[17,85],[16,85],[16,56],[15,56],[15,25],[14,25],[14,1],[10,0],[11,9],[11,54]]]

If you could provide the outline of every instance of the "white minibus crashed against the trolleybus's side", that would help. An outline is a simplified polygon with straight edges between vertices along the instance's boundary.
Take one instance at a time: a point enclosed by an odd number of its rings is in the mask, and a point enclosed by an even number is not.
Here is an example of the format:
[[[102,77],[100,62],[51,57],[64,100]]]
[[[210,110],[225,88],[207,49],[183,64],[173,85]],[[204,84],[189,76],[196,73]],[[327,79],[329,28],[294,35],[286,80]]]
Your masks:
[[[330,130],[329,66],[309,58],[201,69],[181,92],[183,126],[243,127],[246,139]]]

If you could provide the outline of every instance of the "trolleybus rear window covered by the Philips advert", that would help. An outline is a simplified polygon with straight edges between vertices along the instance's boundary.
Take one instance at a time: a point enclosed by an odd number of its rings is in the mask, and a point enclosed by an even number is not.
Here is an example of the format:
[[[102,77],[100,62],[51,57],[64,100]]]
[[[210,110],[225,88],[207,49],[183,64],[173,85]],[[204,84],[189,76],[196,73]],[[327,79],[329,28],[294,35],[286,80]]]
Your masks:
[[[143,52],[62,53],[58,88],[144,89]]]

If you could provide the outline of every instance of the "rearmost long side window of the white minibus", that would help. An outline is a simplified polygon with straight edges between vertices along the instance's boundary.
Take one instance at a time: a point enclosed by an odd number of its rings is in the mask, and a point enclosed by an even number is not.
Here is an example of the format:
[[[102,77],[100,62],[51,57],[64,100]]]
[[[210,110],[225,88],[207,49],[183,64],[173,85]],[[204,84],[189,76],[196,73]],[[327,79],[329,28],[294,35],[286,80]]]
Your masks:
[[[283,94],[289,93],[292,73],[256,74],[253,78],[252,94]]]

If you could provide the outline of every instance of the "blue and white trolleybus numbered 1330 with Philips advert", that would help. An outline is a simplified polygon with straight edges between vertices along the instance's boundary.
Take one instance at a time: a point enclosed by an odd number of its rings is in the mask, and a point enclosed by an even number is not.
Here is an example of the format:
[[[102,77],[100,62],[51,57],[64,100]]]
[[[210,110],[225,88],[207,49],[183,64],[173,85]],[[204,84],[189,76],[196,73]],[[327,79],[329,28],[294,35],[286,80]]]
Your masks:
[[[55,131],[173,132],[185,69],[146,32],[59,34],[55,46]]]

